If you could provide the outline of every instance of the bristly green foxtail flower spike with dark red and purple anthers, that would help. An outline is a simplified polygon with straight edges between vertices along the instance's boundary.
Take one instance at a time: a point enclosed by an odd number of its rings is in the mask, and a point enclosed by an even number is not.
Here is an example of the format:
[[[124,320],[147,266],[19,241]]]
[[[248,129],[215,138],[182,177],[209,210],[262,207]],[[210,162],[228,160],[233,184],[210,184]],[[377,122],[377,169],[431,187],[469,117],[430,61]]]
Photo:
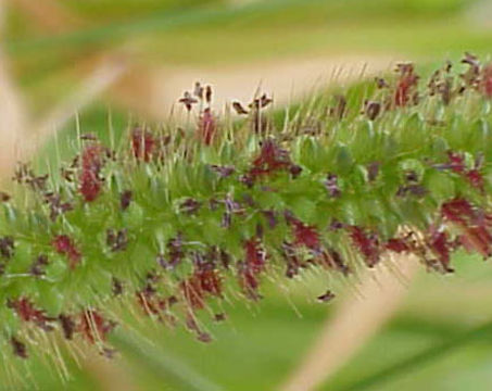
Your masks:
[[[3,354],[58,332],[111,355],[115,301],[206,342],[195,315],[229,292],[261,299],[269,273],[348,278],[405,254],[447,274],[458,249],[490,257],[492,65],[458,67],[424,83],[400,64],[281,119],[266,94],[220,118],[197,84],[186,128],[136,126],[116,151],[84,135],[54,177],[20,164],[1,194]]]

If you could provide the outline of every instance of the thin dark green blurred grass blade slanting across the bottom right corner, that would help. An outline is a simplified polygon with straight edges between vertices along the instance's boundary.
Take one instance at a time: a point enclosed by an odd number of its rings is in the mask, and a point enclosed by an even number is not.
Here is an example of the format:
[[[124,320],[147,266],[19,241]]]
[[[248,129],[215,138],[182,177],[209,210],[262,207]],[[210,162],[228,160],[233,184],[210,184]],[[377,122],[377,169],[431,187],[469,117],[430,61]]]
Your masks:
[[[432,346],[421,353],[413,355],[404,361],[401,361],[394,365],[383,368],[374,375],[366,378],[359,379],[352,384],[343,386],[339,388],[329,388],[331,391],[362,391],[367,390],[371,387],[378,386],[380,389],[383,382],[394,380],[398,377],[407,375],[411,370],[415,370],[421,367],[424,364],[442,358],[445,354],[463,348],[469,343],[472,343],[482,338],[492,337],[492,321],[485,323],[484,325],[474,328],[467,332],[462,333],[458,337],[452,338],[445,342],[442,342],[436,346]]]

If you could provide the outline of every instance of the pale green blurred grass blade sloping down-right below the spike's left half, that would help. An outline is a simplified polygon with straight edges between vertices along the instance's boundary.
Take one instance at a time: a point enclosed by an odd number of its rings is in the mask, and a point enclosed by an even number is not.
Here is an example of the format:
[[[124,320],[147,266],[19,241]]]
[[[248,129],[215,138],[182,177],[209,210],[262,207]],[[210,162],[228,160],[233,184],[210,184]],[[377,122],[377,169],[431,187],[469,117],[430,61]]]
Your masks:
[[[128,335],[116,330],[111,342],[127,357],[142,363],[156,377],[179,386],[179,390],[190,391],[220,391],[220,387],[197,374],[178,358],[157,350],[151,342],[136,333]]]

